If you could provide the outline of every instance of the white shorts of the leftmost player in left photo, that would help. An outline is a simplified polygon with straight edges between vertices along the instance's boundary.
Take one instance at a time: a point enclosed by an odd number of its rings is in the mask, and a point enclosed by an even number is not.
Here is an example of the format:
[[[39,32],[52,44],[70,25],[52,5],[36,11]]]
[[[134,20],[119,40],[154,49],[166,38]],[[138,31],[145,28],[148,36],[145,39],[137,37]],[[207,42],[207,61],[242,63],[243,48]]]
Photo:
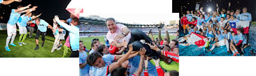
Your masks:
[[[7,24],[7,35],[12,36],[12,34],[17,33],[17,27],[16,25]]]

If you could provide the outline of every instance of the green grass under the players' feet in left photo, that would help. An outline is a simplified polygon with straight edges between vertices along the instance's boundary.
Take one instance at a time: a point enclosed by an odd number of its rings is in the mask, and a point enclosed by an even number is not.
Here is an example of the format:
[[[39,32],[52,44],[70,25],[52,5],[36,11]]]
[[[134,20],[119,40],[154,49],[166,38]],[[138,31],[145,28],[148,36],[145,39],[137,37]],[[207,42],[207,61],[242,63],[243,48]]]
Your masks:
[[[29,32],[24,43],[26,45],[19,45],[19,31],[17,31],[17,36],[15,37],[14,44],[15,47],[9,45],[11,51],[6,51],[4,49],[7,37],[7,31],[0,31],[0,57],[62,57],[63,56],[63,47],[60,50],[55,50],[51,53],[52,45],[54,43],[55,38],[53,36],[45,36],[44,47],[42,45],[41,36],[39,38],[39,49],[34,50],[36,47],[35,43],[35,33],[33,33],[33,37],[29,38]],[[63,45],[65,40],[62,41]],[[69,57],[71,52],[69,51],[66,57]]]

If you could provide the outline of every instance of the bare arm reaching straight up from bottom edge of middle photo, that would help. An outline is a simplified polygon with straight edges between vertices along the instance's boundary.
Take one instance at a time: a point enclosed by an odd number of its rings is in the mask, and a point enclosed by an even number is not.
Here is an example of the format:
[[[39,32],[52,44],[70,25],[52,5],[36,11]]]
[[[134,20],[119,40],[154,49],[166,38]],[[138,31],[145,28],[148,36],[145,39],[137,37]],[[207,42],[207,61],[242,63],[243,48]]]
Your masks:
[[[143,61],[144,61],[144,57],[145,57],[145,53],[146,53],[146,49],[140,49],[140,63],[139,63],[139,68],[136,72],[134,72],[133,74],[136,76],[140,76],[140,73],[143,70]]]

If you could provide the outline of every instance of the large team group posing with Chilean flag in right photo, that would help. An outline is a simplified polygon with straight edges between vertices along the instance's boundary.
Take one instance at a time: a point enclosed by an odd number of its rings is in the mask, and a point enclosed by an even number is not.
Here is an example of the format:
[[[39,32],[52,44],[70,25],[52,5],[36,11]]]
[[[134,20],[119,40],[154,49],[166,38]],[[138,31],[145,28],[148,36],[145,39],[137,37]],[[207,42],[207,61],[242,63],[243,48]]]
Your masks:
[[[250,24],[252,15],[247,12],[246,7],[243,8],[243,13],[240,13],[240,9],[230,10],[230,5],[228,3],[227,11],[225,9],[220,11],[220,7],[216,4],[217,10],[211,13],[203,11],[203,7],[195,12],[188,10],[187,14],[183,13],[180,22],[186,35],[179,38],[180,45],[195,45],[195,42],[191,42],[193,39],[190,38],[190,34],[198,33],[207,37],[204,47],[208,47],[207,43],[213,43],[211,49],[207,50],[212,51],[216,46],[226,46],[229,54],[244,56],[243,49],[248,47],[248,29],[245,31],[243,27],[237,27],[237,30],[231,28],[239,22]]]

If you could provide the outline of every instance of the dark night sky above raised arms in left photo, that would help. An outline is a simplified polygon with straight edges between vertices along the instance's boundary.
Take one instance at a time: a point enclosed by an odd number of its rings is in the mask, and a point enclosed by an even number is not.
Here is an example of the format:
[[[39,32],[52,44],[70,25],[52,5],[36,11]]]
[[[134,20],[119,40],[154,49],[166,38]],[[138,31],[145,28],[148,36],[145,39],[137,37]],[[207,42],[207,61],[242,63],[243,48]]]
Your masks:
[[[40,18],[52,25],[54,15],[58,15],[60,19],[68,19],[70,17],[69,12],[65,10],[70,1],[71,0],[22,0],[21,3],[13,2],[8,5],[0,4],[0,14],[3,16],[3,20],[0,20],[0,22],[7,23],[11,10],[17,9],[19,4],[22,6],[28,6],[28,4],[31,4],[29,8],[38,6],[32,14],[38,15],[42,13]]]

